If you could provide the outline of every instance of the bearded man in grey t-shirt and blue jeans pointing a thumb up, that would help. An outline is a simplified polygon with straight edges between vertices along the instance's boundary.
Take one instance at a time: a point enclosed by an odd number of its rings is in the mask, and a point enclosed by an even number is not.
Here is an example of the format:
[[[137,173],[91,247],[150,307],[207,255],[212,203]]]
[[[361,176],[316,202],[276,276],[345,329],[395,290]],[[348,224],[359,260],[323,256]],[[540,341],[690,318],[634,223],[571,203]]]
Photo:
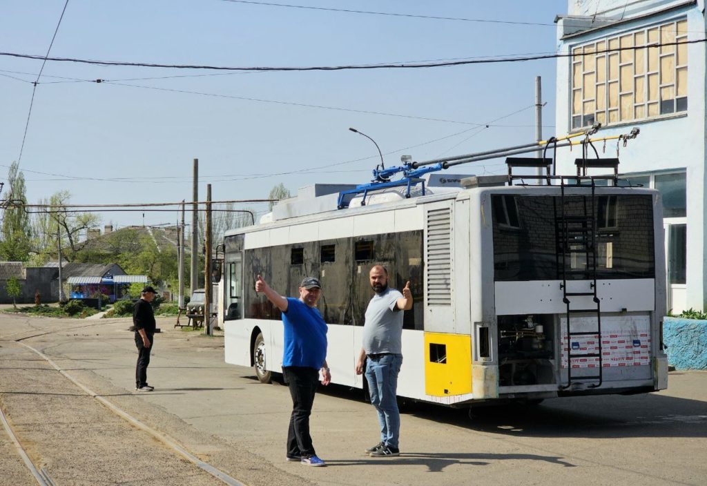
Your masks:
[[[356,361],[356,374],[363,373],[366,362],[370,403],[378,412],[380,443],[366,452],[372,457],[399,456],[400,413],[396,396],[402,365],[402,311],[412,309],[412,293],[409,282],[402,294],[388,288],[388,271],[384,266],[371,268],[369,278],[375,295],[366,309],[363,348]]]

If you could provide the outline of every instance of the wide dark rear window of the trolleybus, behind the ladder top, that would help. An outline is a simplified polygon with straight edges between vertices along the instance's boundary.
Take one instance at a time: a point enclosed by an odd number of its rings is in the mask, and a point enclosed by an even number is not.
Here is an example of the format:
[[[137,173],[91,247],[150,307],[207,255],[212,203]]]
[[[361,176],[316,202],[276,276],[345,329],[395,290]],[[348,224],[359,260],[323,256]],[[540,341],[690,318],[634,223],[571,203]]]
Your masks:
[[[649,195],[498,194],[491,206],[495,280],[586,280],[594,262],[597,278],[655,277]]]

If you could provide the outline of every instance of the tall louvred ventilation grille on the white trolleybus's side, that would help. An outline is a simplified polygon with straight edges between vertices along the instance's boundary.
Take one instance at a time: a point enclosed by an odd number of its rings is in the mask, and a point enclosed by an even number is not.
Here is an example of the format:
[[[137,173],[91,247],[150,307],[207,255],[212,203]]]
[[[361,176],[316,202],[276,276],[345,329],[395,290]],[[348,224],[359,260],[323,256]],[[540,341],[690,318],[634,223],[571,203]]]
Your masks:
[[[452,304],[452,211],[433,209],[427,213],[427,303]]]

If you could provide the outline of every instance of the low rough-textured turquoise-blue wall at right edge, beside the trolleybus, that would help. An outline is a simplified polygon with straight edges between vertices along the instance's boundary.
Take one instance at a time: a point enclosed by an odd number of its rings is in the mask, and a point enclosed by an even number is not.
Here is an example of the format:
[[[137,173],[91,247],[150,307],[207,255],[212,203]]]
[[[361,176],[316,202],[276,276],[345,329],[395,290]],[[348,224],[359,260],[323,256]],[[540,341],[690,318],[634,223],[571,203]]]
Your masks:
[[[707,321],[666,317],[663,343],[675,369],[707,369]]]

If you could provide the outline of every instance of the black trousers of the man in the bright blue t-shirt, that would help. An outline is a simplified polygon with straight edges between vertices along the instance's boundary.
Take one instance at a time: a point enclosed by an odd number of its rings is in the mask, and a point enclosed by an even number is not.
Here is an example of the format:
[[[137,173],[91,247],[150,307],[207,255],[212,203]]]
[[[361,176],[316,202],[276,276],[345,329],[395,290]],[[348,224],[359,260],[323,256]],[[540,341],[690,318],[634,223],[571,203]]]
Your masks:
[[[282,369],[283,377],[290,387],[292,415],[287,432],[287,455],[291,457],[314,456],[312,436],[309,433],[309,417],[312,413],[314,395],[319,384],[319,370],[288,366]]]

